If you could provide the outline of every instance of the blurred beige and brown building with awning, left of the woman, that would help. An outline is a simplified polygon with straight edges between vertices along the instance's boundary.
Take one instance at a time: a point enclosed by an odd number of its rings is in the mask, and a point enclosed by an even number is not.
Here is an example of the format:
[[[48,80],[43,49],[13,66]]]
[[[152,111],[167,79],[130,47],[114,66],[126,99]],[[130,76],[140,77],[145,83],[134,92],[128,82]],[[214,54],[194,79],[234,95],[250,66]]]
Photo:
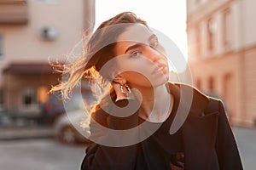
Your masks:
[[[39,105],[60,75],[50,59],[66,54],[91,31],[94,0],[0,0],[0,107],[38,116]]]

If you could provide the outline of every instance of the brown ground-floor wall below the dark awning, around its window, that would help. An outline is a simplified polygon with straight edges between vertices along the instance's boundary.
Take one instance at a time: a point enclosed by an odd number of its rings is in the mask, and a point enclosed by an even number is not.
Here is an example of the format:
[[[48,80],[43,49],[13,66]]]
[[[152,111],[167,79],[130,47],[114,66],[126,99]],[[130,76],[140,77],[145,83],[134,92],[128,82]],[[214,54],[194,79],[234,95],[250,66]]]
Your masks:
[[[20,114],[26,114],[26,116],[38,116],[40,114],[40,107],[38,99],[34,105],[26,107],[22,98],[24,97],[24,91],[26,88],[33,89],[38,97],[38,89],[45,87],[49,91],[49,84],[55,84],[57,75],[39,75],[38,74],[5,74],[3,80],[6,82],[4,92],[6,99],[6,108],[10,112],[19,111]]]

